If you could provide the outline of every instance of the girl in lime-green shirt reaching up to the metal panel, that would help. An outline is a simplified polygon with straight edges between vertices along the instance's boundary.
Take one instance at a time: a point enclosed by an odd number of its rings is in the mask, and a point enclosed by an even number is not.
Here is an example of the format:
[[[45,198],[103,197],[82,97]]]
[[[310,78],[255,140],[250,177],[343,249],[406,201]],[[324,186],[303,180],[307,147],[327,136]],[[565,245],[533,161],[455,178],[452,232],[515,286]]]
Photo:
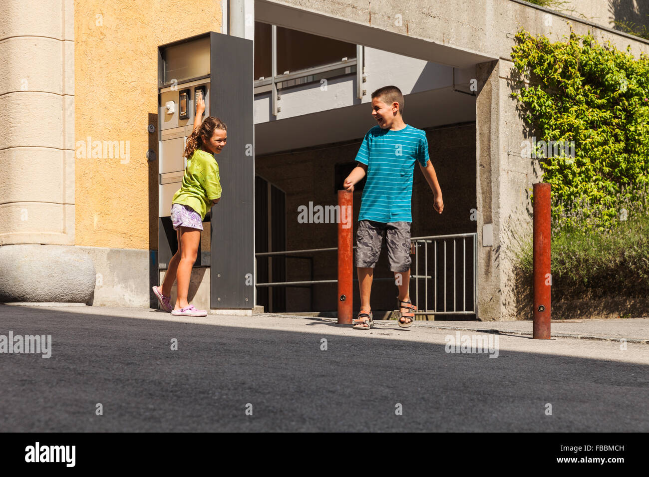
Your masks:
[[[220,154],[227,140],[227,127],[218,117],[208,116],[201,123],[205,101],[200,97],[194,128],[183,156],[187,158],[182,187],[171,199],[171,221],[177,231],[178,251],[169,261],[162,286],[154,286],[160,306],[175,316],[207,316],[187,302],[191,268],[201,241],[202,221],[207,211],[221,199],[219,165],[212,154]],[[171,286],[178,279],[176,304],[171,308]]]

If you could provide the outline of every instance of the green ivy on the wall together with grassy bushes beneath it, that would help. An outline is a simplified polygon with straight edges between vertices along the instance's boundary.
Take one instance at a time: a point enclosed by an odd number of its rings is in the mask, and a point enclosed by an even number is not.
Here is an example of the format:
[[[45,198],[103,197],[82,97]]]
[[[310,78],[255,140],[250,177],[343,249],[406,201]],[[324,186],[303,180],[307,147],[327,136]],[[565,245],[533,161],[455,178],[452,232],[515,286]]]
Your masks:
[[[572,31],[567,42],[516,40],[512,96],[526,125],[539,141],[574,141],[574,157],[535,151],[552,185],[553,299],[648,296],[648,56]],[[529,288],[529,236],[515,253]]]

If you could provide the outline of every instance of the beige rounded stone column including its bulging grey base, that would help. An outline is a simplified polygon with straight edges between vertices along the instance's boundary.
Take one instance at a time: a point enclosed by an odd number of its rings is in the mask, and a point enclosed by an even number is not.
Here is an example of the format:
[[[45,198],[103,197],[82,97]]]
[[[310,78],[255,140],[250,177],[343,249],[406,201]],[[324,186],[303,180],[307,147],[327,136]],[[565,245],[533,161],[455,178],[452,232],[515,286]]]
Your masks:
[[[88,302],[75,247],[73,0],[0,4],[0,301]]]

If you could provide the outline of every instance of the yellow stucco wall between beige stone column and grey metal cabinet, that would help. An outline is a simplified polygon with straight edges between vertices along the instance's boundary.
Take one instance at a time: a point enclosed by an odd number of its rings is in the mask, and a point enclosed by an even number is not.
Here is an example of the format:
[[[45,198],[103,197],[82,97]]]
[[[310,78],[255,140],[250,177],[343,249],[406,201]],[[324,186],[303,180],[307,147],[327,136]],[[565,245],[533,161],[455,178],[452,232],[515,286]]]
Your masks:
[[[75,245],[157,249],[156,48],[220,30],[218,1],[75,0]]]

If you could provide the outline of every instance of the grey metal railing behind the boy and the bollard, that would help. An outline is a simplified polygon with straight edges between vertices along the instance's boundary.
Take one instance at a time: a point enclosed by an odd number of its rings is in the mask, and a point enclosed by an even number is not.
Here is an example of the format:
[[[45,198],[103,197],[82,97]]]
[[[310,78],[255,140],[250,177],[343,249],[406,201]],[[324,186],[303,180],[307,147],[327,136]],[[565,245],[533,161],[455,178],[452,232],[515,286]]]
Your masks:
[[[458,267],[457,267],[457,247],[456,247],[456,241],[461,239],[462,241],[462,268],[460,273],[458,273]],[[471,239],[471,257],[469,259],[469,268],[467,268],[467,239]],[[453,276],[453,281],[452,281],[452,300],[453,300],[453,308],[452,310],[448,310],[447,308],[447,295],[448,295],[448,290],[447,290],[447,285],[449,284],[450,280],[450,273],[448,272],[448,263],[447,263],[447,258],[448,258],[448,252],[447,252],[447,241],[453,242],[453,261],[452,261],[452,276]],[[469,234],[450,234],[450,235],[440,235],[440,236],[428,236],[428,237],[415,237],[411,238],[411,247],[414,250],[414,258],[413,258],[413,264],[414,264],[414,269],[415,272],[411,273],[410,275],[410,280],[415,280],[414,283],[414,292],[415,292],[415,304],[417,304],[419,310],[415,312],[415,315],[443,315],[443,314],[463,314],[463,315],[470,315],[470,314],[475,314],[476,313],[476,304],[478,302],[478,262],[477,262],[477,256],[478,256],[478,234],[475,232],[469,233]],[[432,243],[432,254],[434,257],[434,263],[433,263],[433,273],[432,275],[428,275],[428,244]],[[443,243],[443,247],[437,247],[438,243]],[[424,249],[424,258],[422,259],[422,262],[424,262],[424,275],[419,275],[419,254],[420,251],[419,249],[423,247]],[[352,247],[353,249],[356,249],[356,247]],[[311,254],[315,252],[331,252],[331,251],[337,251],[337,247],[329,247],[329,248],[324,248],[324,249],[304,249],[304,250],[290,250],[290,251],[281,251],[281,252],[259,252],[255,254],[255,257],[265,257],[265,256],[281,256],[281,255],[297,255],[297,254]],[[443,269],[442,273],[438,274],[438,260],[437,257],[439,254],[441,254],[443,251],[443,261],[440,260],[440,263],[443,263]],[[411,270],[412,270],[412,265],[411,265]],[[441,280],[438,280],[438,276],[441,275],[442,278]],[[462,309],[458,310],[458,307],[456,306],[456,297],[457,297],[457,284],[458,284],[458,275],[460,275],[461,278],[461,283],[462,283]],[[257,274],[255,273],[255,278]],[[312,275],[313,278],[313,275]],[[467,286],[467,278],[470,278],[469,282],[470,285]],[[434,302],[433,302],[433,308],[429,309],[428,308],[428,291],[430,289],[430,283],[429,279],[432,281],[433,285],[433,295],[434,295]],[[390,280],[394,282],[395,278],[394,277],[384,277],[384,278],[374,278],[373,282],[376,281],[385,281],[385,280]],[[421,306],[419,302],[419,282],[423,280],[423,293],[424,293],[424,305],[423,307]],[[326,284],[326,283],[337,283],[338,280],[299,280],[299,281],[293,281],[293,282],[268,282],[268,283],[256,283],[255,286],[258,287],[273,287],[273,286],[313,286],[315,284]],[[354,279],[354,282],[358,282],[358,279]],[[437,298],[438,298],[438,288],[443,287],[443,309],[439,310],[437,308]],[[469,293],[469,299],[471,301],[471,306],[469,307],[470,309],[467,310],[467,289],[470,289]],[[413,284],[411,283],[410,286],[410,293],[412,295],[413,292]],[[313,302],[313,301],[312,301]]]

